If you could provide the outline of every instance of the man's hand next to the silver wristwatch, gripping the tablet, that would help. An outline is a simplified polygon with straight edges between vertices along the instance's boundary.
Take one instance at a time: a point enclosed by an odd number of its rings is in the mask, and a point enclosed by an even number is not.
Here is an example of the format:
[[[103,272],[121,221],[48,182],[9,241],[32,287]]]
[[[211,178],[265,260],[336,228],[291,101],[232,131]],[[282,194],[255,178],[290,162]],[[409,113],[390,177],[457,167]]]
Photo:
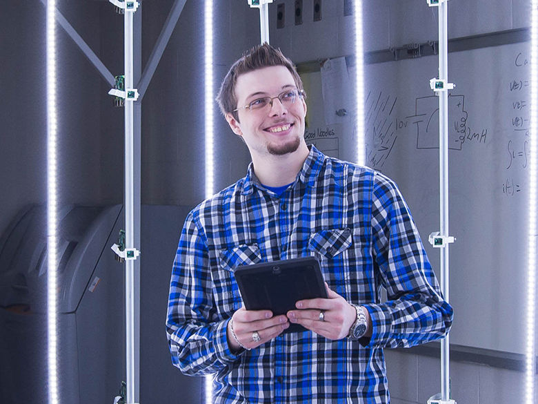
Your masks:
[[[328,298],[299,300],[295,303],[297,310],[288,311],[286,316],[291,323],[300,324],[325,338],[339,340],[348,336],[357,319],[357,311],[346,299],[330,290],[327,283],[325,287]]]

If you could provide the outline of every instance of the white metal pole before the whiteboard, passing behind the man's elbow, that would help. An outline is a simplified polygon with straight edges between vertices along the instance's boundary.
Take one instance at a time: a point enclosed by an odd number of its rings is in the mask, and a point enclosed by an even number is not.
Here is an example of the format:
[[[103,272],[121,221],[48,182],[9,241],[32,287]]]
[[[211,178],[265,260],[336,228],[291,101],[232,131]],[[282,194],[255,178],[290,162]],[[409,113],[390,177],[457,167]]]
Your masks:
[[[439,4],[439,79],[448,82],[447,2]],[[448,233],[448,90],[439,93],[439,224],[441,236]],[[441,248],[441,291],[449,301],[448,248]],[[441,341],[441,400],[450,398],[449,336]]]

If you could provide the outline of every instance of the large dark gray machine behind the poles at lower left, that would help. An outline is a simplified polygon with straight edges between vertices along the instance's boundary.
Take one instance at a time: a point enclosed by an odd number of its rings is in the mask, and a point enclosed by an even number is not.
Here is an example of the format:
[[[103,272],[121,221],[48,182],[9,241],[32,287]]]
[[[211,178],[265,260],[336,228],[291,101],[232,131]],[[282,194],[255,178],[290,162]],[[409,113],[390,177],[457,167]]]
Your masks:
[[[202,378],[170,361],[164,321],[185,206],[141,207],[141,403],[200,403]],[[121,205],[59,213],[59,386],[70,404],[112,403],[125,381],[124,265],[110,249]],[[23,209],[0,238],[0,403],[47,400],[46,209]]]

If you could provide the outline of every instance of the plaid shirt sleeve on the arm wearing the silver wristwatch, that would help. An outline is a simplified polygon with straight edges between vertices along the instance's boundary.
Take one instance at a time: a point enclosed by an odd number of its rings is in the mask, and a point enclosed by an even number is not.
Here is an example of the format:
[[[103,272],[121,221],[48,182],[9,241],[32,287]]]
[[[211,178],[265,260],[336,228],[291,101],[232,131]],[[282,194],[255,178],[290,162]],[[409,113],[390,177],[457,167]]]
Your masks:
[[[452,307],[441,294],[396,184],[379,173],[374,178],[373,249],[388,300],[365,305],[372,318],[372,337],[366,344],[412,347],[443,338],[452,325]]]

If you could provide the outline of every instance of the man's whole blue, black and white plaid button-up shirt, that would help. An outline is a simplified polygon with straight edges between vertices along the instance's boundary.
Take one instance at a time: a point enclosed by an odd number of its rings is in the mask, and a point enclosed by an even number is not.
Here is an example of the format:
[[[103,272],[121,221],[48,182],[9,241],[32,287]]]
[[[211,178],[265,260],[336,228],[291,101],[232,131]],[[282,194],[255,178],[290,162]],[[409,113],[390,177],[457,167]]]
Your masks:
[[[332,290],[368,309],[372,338],[332,341],[305,331],[232,354],[226,326],[242,305],[235,267],[312,255]],[[451,323],[452,307],[395,184],[314,146],[280,197],[251,164],[246,177],[186,218],[168,340],[181,372],[215,374],[215,403],[388,403],[383,347],[441,338]]]

